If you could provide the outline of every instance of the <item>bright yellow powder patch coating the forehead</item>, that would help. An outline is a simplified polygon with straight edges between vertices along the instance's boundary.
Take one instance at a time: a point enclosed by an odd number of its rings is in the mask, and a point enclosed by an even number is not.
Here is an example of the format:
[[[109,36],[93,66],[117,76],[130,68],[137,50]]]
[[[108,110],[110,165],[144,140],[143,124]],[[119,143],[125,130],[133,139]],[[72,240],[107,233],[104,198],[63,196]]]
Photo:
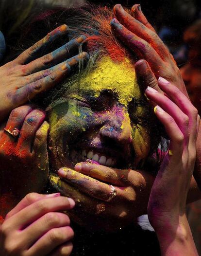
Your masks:
[[[110,89],[117,93],[119,103],[126,107],[134,96],[141,94],[131,61],[125,58],[123,62],[114,62],[109,56],[103,57],[98,66],[82,79],[80,88],[95,91],[97,97],[102,90]]]

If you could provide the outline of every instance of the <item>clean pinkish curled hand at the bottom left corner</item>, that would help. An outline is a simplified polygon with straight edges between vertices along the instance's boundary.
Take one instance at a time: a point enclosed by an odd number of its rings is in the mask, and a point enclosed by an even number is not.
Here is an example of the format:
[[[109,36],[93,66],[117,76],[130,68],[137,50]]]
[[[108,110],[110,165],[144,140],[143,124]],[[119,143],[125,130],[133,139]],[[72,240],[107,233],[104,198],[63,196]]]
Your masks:
[[[74,233],[62,211],[75,202],[60,193],[30,193],[6,216],[0,226],[0,249],[4,256],[69,256]]]

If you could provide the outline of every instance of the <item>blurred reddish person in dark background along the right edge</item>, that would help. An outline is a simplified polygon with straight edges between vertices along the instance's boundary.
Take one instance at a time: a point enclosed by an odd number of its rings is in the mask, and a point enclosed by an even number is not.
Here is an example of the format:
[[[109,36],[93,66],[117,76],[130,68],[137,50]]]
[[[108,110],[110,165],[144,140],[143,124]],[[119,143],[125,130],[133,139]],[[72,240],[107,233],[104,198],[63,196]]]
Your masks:
[[[188,61],[180,69],[188,95],[201,114],[201,19],[184,32],[184,42],[188,45]],[[187,209],[188,221],[201,255],[201,200],[191,203]]]

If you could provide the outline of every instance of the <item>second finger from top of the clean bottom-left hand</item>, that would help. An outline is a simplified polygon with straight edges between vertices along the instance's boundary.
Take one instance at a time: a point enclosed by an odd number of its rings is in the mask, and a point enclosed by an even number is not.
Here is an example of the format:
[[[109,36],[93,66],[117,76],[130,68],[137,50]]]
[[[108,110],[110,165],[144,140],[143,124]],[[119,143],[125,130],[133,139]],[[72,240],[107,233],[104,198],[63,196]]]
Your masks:
[[[60,212],[72,209],[75,202],[66,197],[46,198],[36,201],[22,209],[9,219],[9,226],[12,229],[23,229],[28,224],[48,212]]]

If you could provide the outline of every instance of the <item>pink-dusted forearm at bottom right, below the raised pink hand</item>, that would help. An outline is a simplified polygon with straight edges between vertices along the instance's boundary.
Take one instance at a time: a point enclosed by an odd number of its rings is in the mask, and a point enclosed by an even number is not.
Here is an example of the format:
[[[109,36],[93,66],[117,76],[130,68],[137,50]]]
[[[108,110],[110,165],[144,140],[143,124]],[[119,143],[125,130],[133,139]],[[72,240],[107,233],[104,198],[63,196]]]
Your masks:
[[[186,216],[179,217],[178,224],[168,223],[155,228],[162,256],[198,256]]]

